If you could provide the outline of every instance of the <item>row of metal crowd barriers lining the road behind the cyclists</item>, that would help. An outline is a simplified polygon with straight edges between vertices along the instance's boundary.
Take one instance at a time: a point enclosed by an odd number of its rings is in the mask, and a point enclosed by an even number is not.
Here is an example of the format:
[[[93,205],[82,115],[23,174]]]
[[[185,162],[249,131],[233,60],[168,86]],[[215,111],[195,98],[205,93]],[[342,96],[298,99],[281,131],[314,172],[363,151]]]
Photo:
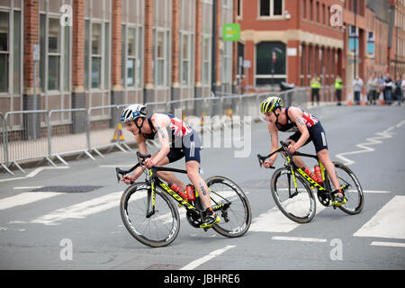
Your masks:
[[[220,96],[180,99],[169,102],[146,103],[148,114],[154,112],[171,112],[177,117],[192,123],[196,130],[217,129],[228,125],[240,124],[243,116],[263,120],[260,114],[260,103],[271,92],[259,94],[223,94]],[[307,108],[311,102],[311,88],[300,87],[293,90],[277,92],[286,105]],[[326,87],[320,93],[320,101],[335,99],[334,89]],[[63,158],[68,154],[86,155],[94,159],[92,153],[100,157],[100,150],[119,148],[131,151],[134,144],[133,135],[125,130],[118,119],[112,115],[121,115],[128,104],[105,105],[65,110],[36,110],[0,113],[2,137],[0,139],[0,163],[10,174],[10,167],[16,166],[23,173],[18,162],[28,159],[41,159],[56,166],[57,158],[68,165]],[[181,109],[181,114],[176,113]],[[238,117],[236,117],[238,116]],[[238,118],[238,121],[234,121]],[[121,125],[121,126],[120,126]],[[107,152],[108,152],[107,151]]]

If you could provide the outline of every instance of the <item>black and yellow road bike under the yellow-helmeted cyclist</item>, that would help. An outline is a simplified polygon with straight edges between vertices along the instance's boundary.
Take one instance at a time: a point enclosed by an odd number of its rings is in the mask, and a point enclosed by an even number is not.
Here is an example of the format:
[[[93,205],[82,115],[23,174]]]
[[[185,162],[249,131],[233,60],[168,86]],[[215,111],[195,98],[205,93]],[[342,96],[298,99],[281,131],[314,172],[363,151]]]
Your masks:
[[[275,170],[271,179],[271,191],[277,207],[289,219],[298,223],[307,223],[316,214],[316,201],[314,193],[316,191],[318,200],[324,206],[337,207],[350,215],[358,214],[365,204],[365,196],[362,186],[356,175],[346,165],[333,162],[341,184],[340,189],[344,193],[347,202],[343,205],[332,205],[334,199],[334,189],[330,177],[325,167],[320,163],[316,155],[294,152],[293,155],[287,151],[289,143],[280,141],[281,147],[267,156],[257,154],[260,166],[275,153],[280,153],[284,159],[284,167]],[[293,163],[293,156],[312,157],[318,161],[323,183],[317,183],[310,175],[307,175],[301,168]],[[275,166],[271,166],[275,169]],[[314,192],[312,192],[312,190]]]

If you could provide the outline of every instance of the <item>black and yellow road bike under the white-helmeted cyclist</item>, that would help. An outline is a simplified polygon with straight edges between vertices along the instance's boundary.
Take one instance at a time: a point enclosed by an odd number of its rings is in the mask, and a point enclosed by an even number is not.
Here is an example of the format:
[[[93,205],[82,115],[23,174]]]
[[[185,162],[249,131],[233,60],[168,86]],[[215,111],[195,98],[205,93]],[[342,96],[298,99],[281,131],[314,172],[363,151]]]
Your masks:
[[[130,169],[115,168],[118,181],[151,156],[137,152],[137,157],[139,163]],[[185,208],[188,222],[200,228],[204,208],[197,191],[194,189],[195,200],[187,202],[157,176],[158,171],[187,172],[164,166],[152,166],[149,169],[142,166],[142,169],[146,175],[145,182],[130,184],[121,196],[121,218],[130,234],[150,247],[163,247],[172,243],[180,230],[180,215],[176,204]],[[212,209],[220,216],[220,222],[212,225],[212,229],[229,238],[244,235],[252,220],[245,193],[233,181],[222,176],[211,176],[205,182],[210,191]]]

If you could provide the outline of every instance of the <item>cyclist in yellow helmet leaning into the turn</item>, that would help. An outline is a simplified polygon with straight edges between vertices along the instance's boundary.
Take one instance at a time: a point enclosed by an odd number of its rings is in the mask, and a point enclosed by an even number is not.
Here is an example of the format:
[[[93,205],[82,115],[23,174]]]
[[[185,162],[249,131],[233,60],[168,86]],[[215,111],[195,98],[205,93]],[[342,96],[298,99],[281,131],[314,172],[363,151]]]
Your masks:
[[[325,166],[333,185],[335,186],[335,199],[332,204],[341,205],[346,203],[346,199],[340,190],[340,183],[336,175],[335,166],[329,158],[328,143],[325,130],[320,121],[309,112],[304,112],[297,107],[284,107],[283,100],[278,96],[268,97],[260,105],[260,112],[266,115],[267,128],[272,138],[271,152],[278,148],[278,131],[294,132],[286,142],[289,142],[288,151],[294,153],[302,146],[313,142],[320,162]],[[278,153],[269,157],[264,162],[266,168],[273,166]],[[305,169],[305,163],[301,157],[294,156],[295,165]]]

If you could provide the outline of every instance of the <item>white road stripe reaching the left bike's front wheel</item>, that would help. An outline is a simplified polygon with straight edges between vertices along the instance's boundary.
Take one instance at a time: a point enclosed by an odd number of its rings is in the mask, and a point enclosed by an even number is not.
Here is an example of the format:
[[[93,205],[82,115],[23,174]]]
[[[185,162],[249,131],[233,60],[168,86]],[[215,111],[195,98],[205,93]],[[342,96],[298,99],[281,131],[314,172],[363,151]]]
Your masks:
[[[84,219],[85,217],[101,211],[111,209],[120,204],[122,191],[109,193],[102,197],[89,201],[80,202],[75,205],[51,211],[49,214],[41,216],[30,223],[40,223],[44,225],[58,225],[60,221],[67,219]]]

